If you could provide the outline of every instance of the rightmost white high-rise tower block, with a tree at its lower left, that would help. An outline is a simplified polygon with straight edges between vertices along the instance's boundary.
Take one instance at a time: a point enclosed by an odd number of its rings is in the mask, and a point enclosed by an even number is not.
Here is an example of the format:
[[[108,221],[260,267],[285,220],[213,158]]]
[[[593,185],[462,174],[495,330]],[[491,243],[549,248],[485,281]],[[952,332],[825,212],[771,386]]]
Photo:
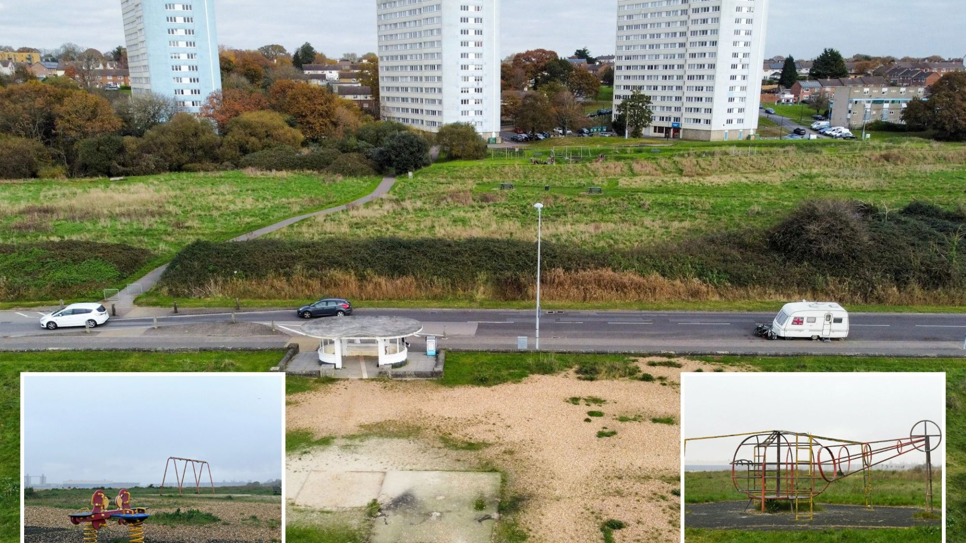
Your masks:
[[[614,106],[635,90],[649,96],[649,136],[754,134],[768,1],[618,0]]]

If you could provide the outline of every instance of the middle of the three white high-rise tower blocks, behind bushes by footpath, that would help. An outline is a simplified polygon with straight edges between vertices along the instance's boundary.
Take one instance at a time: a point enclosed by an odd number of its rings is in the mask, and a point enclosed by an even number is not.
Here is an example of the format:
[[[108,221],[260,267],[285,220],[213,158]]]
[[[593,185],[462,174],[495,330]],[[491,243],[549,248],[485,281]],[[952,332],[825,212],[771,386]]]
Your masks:
[[[500,0],[377,0],[382,118],[499,133]]]

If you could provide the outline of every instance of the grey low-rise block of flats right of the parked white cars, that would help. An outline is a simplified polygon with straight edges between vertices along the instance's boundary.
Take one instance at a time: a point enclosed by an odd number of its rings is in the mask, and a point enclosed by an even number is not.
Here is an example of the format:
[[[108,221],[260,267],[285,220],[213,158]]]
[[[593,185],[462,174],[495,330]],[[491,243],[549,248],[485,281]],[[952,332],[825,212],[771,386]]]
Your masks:
[[[878,79],[881,77],[864,77]],[[829,79],[821,81],[823,88],[831,89],[832,126],[861,129],[867,122],[886,121],[902,123],[902,110],[914,98],[925,97],[925,87],[880,84],[843,85],[843,81],[855,79]]]

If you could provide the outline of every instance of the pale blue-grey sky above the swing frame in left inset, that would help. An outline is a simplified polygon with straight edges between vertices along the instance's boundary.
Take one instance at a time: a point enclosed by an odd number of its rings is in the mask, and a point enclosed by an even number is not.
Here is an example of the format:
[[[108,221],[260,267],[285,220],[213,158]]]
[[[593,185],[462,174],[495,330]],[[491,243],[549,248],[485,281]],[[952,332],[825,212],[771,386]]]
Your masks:
[[[215,482],[281,478],[279,375],[25,376],[24,472],[48,483],[147,486],[161,481],[169,456],[179,456],[207,460]],[[170,470],[167,479],[165,486]]]

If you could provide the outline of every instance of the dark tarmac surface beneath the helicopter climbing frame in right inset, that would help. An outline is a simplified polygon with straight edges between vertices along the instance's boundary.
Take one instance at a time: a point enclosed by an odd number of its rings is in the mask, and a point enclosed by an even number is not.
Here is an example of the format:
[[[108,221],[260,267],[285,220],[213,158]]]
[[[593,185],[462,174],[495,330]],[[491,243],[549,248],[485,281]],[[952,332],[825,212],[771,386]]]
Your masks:
[[[689,503],[684,508],[685,528],[743,529],[743,530],[802,530],[802,529],[878,529],[939,526],[940,519],[914,519],[917,507],[863,505],[833,505],[822,503],[822,510],[814,512],[811,521],[796,521],[795,515],[780,513],[745,512],[748,500]]]

